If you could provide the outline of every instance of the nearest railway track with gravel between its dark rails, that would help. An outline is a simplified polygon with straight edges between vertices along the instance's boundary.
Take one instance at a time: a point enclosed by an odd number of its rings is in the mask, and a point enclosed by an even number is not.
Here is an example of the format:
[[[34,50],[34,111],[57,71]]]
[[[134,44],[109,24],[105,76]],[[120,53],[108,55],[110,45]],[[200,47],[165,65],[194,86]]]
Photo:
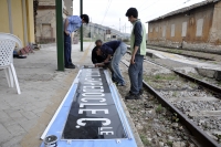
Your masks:
[[[123,61],[128,66],[128,61]],[[204,147],[221,146],[221,88],[178,71],[145,60],[148,64],[167,69],[171,73],[144,74],[144,86],[158,101],[176,114],[177,118]]]

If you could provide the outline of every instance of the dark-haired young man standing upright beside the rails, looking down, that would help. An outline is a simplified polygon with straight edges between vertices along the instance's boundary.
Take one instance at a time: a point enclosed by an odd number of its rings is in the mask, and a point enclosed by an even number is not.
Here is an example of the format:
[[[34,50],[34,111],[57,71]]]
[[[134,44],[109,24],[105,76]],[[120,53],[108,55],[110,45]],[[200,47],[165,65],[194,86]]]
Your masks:
[[[129,8],[126,17],[133,24],[133,31],[130,34],[131,59],[128,69],[130,91],[125,99],[139,99],[143,94],[143,62],[144,55],[146,55],[146,29],[138,19],[136,8]]]

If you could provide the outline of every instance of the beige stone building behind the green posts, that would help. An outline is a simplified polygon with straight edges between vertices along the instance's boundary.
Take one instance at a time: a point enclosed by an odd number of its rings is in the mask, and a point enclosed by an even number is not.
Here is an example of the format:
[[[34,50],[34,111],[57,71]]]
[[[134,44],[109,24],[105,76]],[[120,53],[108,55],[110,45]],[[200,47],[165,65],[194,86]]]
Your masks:
[[[72,14],[73,0],[63,0],[63,18]],[[55,0],[39,0],[35,17],[35,39],[38,43],[51,43],[56,39]]]

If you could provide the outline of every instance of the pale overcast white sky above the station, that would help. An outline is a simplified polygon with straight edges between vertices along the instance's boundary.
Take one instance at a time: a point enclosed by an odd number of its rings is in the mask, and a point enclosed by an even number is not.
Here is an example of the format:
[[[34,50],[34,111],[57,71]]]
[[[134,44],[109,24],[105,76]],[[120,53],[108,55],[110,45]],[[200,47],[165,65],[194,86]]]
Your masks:
[[[204,0],[82,0],[83,13],[90,21],[130,33],[131,23],[125,17],[126,11],[134,7],[138,10],[138,19],[145,23],[148,31],[149,20],[168,12],[191,6]],[[73,14],[80,15],[80,0],[73,0]]]

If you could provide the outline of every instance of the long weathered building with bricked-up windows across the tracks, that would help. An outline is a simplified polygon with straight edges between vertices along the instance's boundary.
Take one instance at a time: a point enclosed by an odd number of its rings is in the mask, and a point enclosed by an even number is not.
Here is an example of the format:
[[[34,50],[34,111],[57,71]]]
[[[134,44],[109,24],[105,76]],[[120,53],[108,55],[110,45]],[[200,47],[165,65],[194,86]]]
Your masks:
[[[148,21],[147,44],[221,53],[221,0],[207,0]]]

